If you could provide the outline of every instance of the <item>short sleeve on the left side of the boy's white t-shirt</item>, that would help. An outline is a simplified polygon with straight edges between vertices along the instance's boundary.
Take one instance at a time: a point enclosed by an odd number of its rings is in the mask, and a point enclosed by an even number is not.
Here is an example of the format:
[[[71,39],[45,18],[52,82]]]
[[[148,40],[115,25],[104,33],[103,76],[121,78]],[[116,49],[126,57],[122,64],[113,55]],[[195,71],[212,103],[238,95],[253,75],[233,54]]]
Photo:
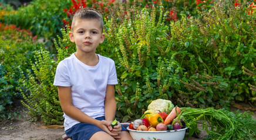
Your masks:
[[[60,61],[55,73],[53,85],[55,86],[71,86],[68,67],[63,61]]]

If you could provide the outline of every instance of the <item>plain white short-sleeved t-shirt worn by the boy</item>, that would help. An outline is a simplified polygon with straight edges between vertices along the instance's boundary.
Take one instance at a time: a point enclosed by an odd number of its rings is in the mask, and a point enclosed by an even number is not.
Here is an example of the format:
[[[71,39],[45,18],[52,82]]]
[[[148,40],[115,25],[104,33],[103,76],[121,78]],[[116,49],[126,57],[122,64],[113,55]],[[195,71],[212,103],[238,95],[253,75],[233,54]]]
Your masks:
[[[107,85],[117,84],[114,61],[99,54],[99,62],[88,66],[76,58],[75,53],[60,61],[53,85],[71,86],[73,105],[92,118],[105,115],[104,103]],[[79,121],[64,113],[65,131]]]

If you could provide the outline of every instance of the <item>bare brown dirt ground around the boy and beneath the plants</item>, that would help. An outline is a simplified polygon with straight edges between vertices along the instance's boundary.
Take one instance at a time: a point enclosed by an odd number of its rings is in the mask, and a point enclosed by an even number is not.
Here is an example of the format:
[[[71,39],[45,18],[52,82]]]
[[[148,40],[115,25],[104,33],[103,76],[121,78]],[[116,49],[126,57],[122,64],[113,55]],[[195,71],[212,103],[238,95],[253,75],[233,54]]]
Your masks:
[[[64,128],[62,125],[52,126],[55,128],[41,128],[44,127],[42,122],[29,121],[29,115],[20,101],[14,104],[14,111],[17,113],[12,120],[0,121],[0,140],[61,140]],[[254,113],[252,116],[256,119],[255,107],[250,104],[237,104],[231,108],[231,111],[236,111],[240,108],[240,112],[250,109]],[[56,128],[57,127],[57,128]],[[201,137],[206,136],[207,133],[201,131]],[[188,140],[200,140],[203,138],[190,137]]]

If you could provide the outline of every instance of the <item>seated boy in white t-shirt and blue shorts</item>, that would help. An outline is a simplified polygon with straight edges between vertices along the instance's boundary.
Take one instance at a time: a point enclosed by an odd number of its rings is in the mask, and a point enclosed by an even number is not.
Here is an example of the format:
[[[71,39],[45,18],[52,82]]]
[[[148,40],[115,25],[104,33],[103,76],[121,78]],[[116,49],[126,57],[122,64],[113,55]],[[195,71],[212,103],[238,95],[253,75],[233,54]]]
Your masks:
[[[95,54],[103,43],[103,20],[97,10],[78,10],[72,20],[70,41],[76,53],[60,61],[53,85],[58,86],[66,135],[75,139],[132,139],[126,128],[111,127],[116,113],[116,68],[110,58]]]

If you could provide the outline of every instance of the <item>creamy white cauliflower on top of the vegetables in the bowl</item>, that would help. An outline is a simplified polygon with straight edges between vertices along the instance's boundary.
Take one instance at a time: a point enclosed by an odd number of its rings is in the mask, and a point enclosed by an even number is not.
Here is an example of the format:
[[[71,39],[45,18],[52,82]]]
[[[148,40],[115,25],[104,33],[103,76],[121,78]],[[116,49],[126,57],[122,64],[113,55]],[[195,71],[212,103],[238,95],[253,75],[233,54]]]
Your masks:
[[[170,100],[164,100],[164,99],[156,99],[151,101],[149,106],[147,106],[147,110],[152,110],[155,113],[166,112],[170,113],[170,111],[174,108],[173,103],[171,103]]]

